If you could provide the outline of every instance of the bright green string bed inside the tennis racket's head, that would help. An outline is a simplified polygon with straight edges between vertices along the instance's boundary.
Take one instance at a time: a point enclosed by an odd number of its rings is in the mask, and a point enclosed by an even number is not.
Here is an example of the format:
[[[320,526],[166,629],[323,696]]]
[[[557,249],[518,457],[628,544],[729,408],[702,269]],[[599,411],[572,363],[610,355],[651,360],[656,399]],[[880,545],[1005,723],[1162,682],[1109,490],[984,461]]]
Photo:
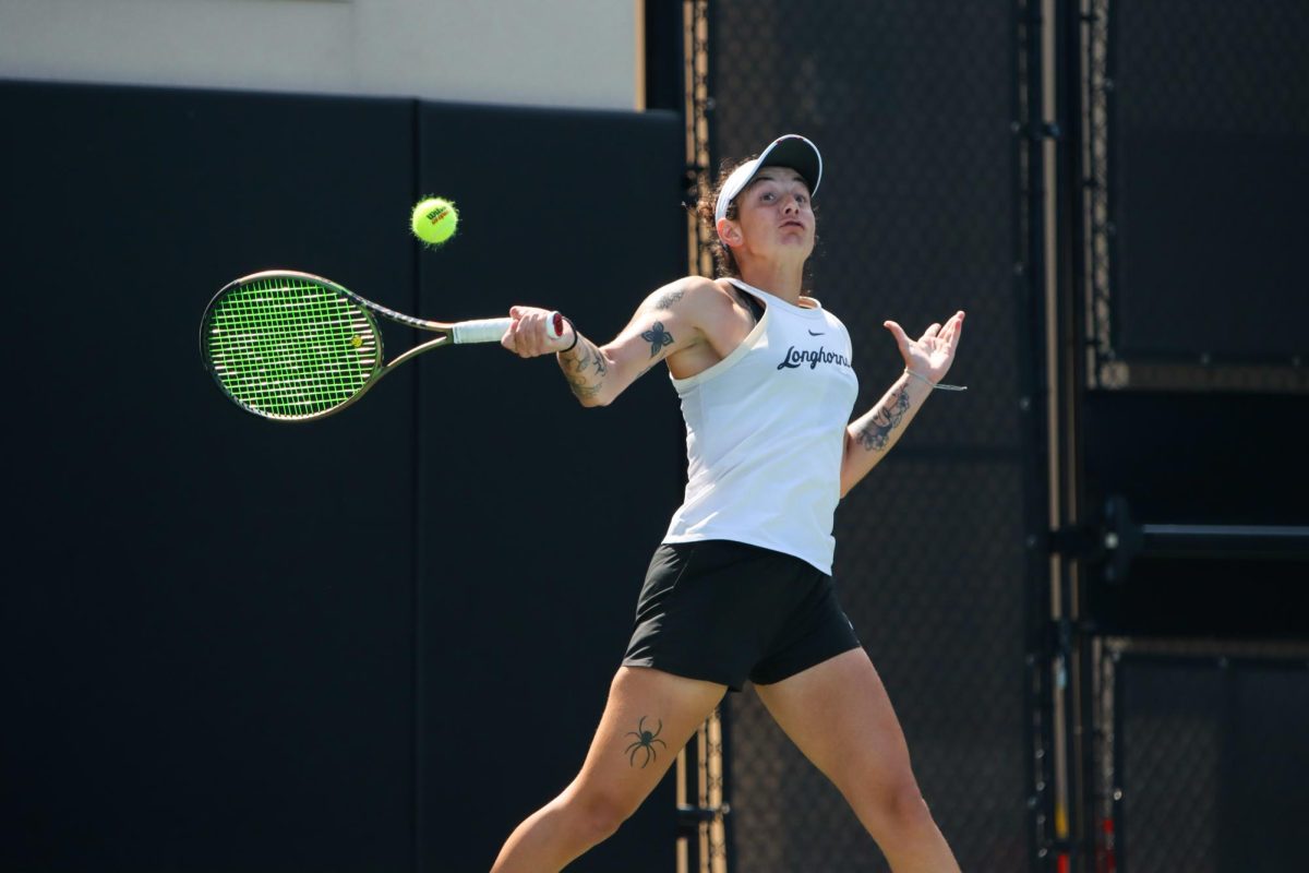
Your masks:
[[[237,287],[213,308],[209,359],[238,403],[302,418],[357,394],[377,369],[370,319],[343,294],[278,277]]]

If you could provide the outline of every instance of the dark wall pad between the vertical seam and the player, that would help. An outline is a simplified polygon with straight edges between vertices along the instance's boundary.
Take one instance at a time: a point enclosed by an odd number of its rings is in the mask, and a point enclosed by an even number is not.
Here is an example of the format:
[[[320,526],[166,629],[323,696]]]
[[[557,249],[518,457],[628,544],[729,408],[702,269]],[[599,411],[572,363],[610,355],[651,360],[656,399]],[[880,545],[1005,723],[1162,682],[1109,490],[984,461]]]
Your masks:
[[[450,188],[469,241],[487,241],[420,258],[420,310],[548,305],[609,339],[685,274],[672,115],[423,105],[418,130],[421,186]],[[474,870],[505,815],[581,764],[681,501],[685,438],[660,370],[602,410],[579,406],[550,360],[476,355],[419,378],[419,832],[433,870]],[[672,788],[576,869],[672,869]]]

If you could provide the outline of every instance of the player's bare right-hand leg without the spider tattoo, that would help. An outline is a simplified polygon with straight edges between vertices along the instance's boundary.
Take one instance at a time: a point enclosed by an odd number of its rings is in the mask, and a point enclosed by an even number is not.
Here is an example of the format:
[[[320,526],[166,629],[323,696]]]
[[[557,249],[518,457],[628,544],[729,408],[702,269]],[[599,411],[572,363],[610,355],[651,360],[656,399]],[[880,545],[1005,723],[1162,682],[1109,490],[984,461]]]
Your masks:
[[[787,736],[846,796],[895,873],[958,873],[914,779],[886,688],[863,649],[755,690]]]

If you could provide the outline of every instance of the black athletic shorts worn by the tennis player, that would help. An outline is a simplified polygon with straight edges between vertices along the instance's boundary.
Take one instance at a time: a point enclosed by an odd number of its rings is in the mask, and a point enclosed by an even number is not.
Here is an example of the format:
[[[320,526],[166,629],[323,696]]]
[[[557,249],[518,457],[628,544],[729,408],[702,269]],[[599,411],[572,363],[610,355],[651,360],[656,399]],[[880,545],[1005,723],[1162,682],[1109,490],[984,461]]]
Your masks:
[[[713,539],[664,543],[623,664],[740,691],[859,648],[831,576],[791,555]]]

